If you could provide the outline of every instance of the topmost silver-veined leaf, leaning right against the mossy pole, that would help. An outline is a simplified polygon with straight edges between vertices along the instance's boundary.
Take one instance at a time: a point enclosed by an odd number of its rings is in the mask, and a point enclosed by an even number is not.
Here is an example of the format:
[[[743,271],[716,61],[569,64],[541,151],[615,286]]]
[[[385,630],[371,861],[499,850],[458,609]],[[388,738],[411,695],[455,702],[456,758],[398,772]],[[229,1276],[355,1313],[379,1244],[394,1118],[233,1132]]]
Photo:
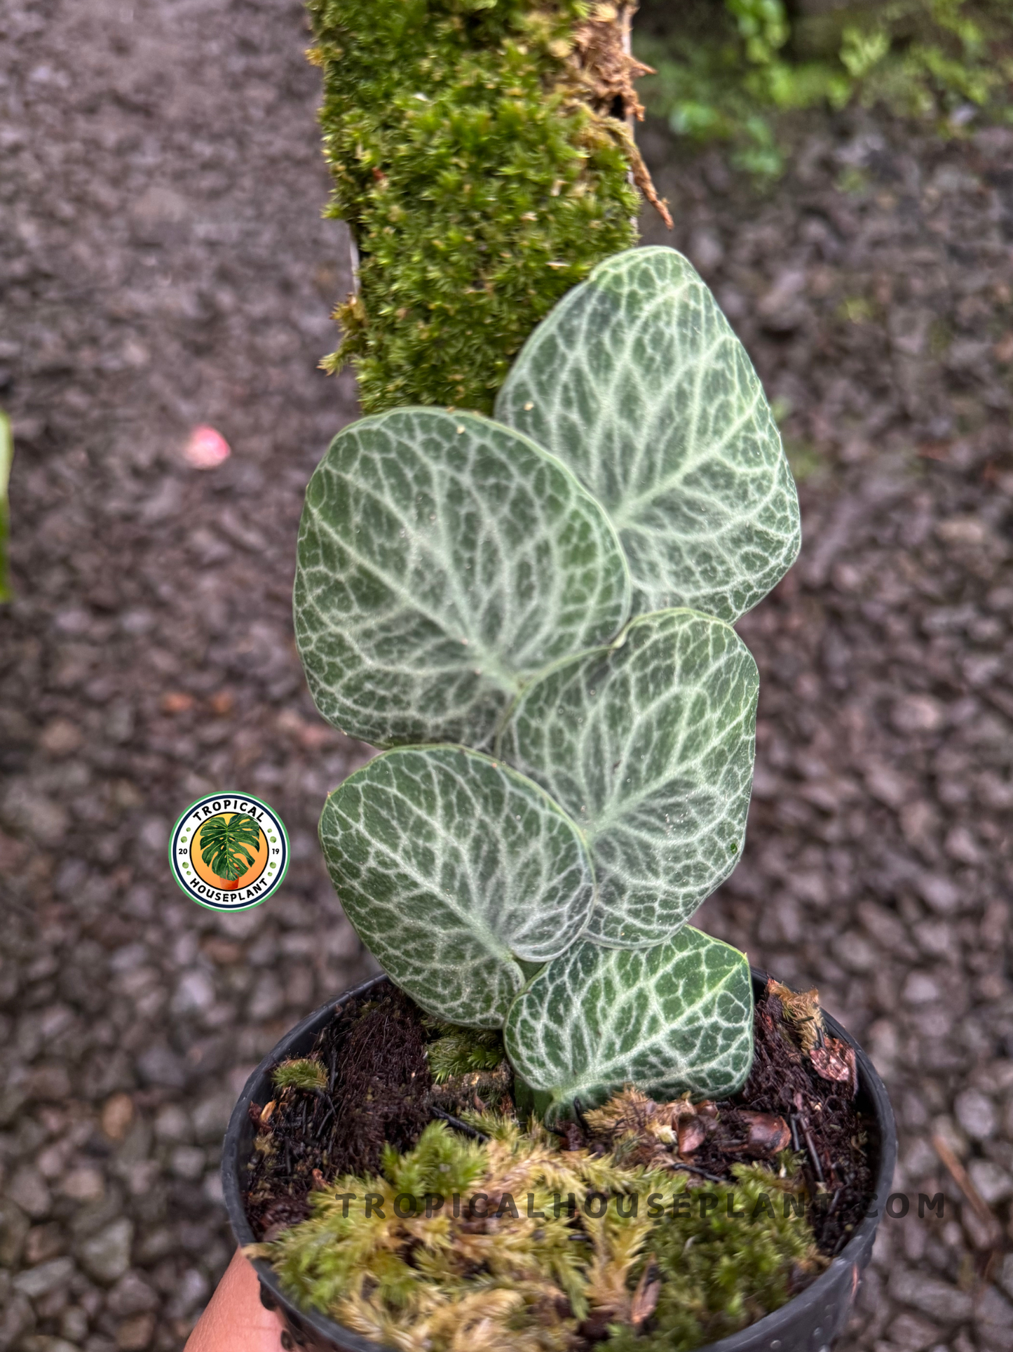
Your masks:
[[[635,611],[735,621],[798,553],[794,481],[756,372],[674,249],[616,254],[567,292],[521,349],[496,416],[605,506]]]

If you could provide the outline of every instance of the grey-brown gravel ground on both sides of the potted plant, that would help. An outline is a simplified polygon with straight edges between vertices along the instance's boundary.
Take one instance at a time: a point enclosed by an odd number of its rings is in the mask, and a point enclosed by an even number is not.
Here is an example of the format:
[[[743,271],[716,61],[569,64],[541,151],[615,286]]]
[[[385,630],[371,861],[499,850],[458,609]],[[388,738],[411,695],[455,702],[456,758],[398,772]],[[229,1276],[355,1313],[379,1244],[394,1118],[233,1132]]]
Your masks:
[[[305,480],[354,416],[347,289],[288,0],[8,0],[0,400],[0,1348],[178,1349],[230,1255],[249,1068],[369,961],[315,842],[366,750],[292,644]],[[1013,1348],[1013,134],[813,126],[767,197],[644,145],[778,399],[805,546],[742,623],[763,690],[750,841],[701,921],[816,982],[901,1125],[851,1348]],[[654,231],[654,227],[651,227]],[[658,237],[655,237],[658,238]],[[194,423],[234,448],[189,469]],[[259,792],[285,888],[220,918],[166,875],[199,794]],[[1005,1276],[1005,1287],[1004,1287]]]

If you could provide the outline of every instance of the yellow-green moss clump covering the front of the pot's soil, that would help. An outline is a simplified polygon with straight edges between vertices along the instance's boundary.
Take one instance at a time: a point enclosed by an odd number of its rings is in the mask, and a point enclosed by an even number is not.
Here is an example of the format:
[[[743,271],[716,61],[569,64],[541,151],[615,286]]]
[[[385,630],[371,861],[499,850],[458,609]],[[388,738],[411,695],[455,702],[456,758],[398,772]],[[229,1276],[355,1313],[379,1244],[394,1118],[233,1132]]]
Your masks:
[[[561,1151],[538,1124],[469,1114],[380,1175],[343,1176],[251,1252],[300,1303],[404,1349],[690,1349],[778,1309],[819,1272],[790,1156],[735,1186]],[[704,1201],[705,1199],[705,1201]],[[650,1321],[654,1332],[644,1332]],[[632,1338],[636,1338],[633,1344]]]

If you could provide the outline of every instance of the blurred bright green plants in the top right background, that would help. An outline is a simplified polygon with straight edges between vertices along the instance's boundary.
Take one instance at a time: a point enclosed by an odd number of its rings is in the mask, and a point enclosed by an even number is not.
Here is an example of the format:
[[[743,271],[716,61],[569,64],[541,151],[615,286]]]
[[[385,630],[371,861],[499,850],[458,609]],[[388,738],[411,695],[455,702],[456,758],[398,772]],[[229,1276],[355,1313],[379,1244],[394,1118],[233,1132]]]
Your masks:
[[[678,135],[727,142],[732,165],[760,178],[783,169],[779,114],[885,104],[944,135],[978,116],[1013,122],[1013,0],[889,0],[794,19],[785,0],[655,0],[633,50],[656,70],[647,108]]]

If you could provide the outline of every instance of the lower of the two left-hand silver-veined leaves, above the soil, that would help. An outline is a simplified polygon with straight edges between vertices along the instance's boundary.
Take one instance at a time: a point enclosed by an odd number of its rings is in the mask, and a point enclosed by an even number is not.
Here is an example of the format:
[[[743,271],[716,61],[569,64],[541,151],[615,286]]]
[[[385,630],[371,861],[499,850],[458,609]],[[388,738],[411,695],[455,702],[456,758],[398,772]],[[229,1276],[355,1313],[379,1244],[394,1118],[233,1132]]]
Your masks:
[[[581,833],[516,771],[462,746],[405,746],[327,799],[320,841],[381,967],[451,1023],[500,1028],[524,984],[582,933],[594,873]]]

